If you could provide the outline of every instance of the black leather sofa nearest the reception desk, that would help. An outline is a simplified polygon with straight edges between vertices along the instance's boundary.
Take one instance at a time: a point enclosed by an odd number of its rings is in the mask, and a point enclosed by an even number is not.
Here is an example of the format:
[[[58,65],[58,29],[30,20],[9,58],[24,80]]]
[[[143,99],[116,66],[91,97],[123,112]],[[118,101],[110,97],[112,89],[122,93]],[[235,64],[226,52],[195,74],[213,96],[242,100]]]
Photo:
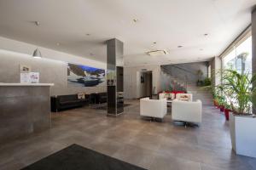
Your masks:
[[[89,104],[89,95],[78,99],[78,94],[58,95],[50,98],[51,111],[63,111]]]

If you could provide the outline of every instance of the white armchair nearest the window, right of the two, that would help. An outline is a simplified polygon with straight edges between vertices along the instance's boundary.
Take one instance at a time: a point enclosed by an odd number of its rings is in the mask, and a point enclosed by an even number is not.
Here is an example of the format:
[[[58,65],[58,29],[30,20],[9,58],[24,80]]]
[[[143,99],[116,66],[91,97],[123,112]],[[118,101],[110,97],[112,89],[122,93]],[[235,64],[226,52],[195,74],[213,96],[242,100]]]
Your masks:
[[[181,101],[174,99],[172,101],[172,121],[183,122],[201,122],[201,100]]]

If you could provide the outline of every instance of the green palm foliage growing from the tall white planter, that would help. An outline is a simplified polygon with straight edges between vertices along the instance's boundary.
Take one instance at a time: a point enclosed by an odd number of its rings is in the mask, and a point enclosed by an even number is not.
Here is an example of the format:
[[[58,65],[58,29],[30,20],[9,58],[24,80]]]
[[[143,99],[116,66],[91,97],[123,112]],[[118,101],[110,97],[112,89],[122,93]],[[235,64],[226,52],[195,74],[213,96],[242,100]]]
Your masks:
[[[221,71],[223,83],[218,85],[225,98],[229,101],[234,114],[250,114],[252,105],[256,104],[255,94],[256,75],[249,77],[248,73],[239,73],[233,70]]]

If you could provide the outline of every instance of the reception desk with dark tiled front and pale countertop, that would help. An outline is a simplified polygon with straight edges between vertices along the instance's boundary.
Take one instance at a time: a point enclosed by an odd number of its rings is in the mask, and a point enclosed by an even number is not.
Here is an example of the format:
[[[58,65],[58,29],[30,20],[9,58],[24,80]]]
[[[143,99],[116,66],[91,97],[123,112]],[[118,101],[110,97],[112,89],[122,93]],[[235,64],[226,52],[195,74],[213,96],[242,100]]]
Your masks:
[[[50,127],[51,83],[0,83],[0,143]]]

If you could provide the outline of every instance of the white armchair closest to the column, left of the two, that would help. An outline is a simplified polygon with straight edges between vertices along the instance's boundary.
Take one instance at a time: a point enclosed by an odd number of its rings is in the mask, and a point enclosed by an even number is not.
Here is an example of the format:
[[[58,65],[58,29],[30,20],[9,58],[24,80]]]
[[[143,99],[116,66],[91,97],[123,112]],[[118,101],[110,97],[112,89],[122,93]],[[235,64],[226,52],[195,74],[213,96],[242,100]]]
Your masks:
[[[164,118],[167,113],[166,99],[140,99],[140,115]]]

